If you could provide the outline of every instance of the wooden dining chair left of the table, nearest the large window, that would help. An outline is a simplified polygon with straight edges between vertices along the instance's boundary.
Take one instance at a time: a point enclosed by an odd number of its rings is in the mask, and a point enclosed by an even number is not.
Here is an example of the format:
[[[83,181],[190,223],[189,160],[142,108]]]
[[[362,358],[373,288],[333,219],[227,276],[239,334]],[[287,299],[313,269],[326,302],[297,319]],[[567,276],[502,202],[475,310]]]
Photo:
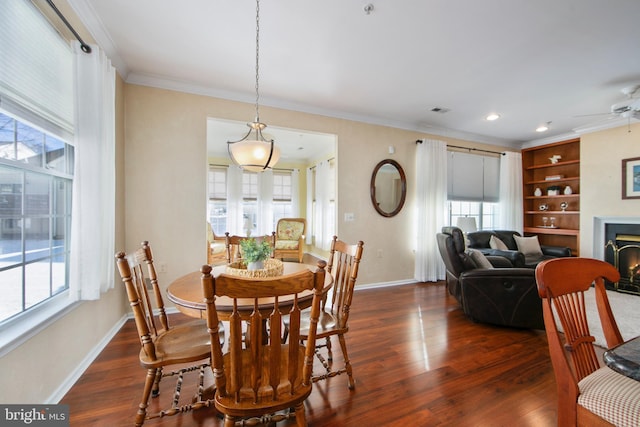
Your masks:
[[[211,359],[206,323],[196,320],[170,327],[149,242],[142,242],[142,247],[129,255],[118,252],[116,259],[140,337],[140,365],[147,370],[135,425],[141,426],[148,419],[211,406],[213,401],[204,399],[202,394],[204,375]],[[145,270],[149,275],[148,282]],[[224,331],[220,331],[220,334],[224,334]],[[170,365],[181,366],[164,372],[164,368]],[[179,398],[184,374],[197,370],[200,374],[196,399],[181,404]],[[168,376],[177,378],[171,407],[147,414],[150,396],[158,396],[160,381]]]

